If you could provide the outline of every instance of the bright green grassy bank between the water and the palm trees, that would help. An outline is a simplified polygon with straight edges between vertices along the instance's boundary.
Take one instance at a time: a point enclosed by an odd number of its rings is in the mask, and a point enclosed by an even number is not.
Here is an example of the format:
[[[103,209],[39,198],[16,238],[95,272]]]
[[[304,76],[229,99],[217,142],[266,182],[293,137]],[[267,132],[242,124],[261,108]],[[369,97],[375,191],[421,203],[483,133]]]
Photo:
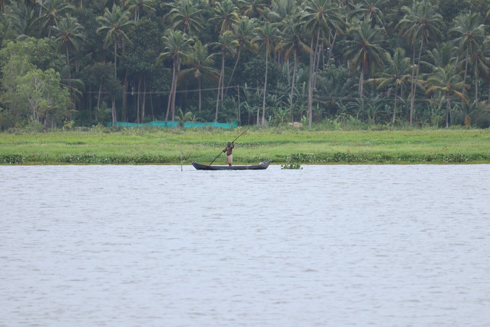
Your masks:
[[[255,127],[254,127],[255,128]],[[172,164],[210,162],[242,127],[223,131],[124,129],[0,134],[0,164]],[[236,143],[236,163],[490,162],[487,129],[309,131],[255,129]],[[223,164],[224,156],[217,160]]]

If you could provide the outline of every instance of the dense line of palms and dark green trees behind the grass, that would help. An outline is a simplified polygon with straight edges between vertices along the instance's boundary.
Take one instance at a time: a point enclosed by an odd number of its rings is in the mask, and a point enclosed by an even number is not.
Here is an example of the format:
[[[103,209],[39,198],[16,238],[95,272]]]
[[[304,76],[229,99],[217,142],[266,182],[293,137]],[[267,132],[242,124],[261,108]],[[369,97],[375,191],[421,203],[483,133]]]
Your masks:
[[[489,5],[0,0],[0,126],[489,126]]]

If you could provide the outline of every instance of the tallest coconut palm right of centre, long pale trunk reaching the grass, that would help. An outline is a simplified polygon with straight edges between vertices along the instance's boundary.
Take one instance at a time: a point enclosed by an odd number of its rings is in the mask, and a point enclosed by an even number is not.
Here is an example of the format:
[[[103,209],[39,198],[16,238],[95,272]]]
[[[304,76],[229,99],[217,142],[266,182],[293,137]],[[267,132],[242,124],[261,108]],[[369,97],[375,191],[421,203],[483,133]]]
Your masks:
[[[317,53],[320,50],[320,33],[324,36],[331,35],[332,31],[342,33],[345,23],[338,11],[339,6],[330,0],[307,0],[304,4],[304,15],[301,21],[304,23],[304,30],[311,36],[310,76],[308,80],[309,127],[313,123],[313,85],[316,77],[315,67],[319,57]]]

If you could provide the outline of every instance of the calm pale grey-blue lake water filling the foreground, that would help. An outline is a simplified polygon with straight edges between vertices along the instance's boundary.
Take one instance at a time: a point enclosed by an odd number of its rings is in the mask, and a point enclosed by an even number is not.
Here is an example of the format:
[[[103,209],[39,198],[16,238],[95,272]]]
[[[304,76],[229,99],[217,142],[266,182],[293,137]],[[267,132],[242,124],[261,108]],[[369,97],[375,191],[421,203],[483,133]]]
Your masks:
[[[0,326],[490,326],[490,165],[0,166]]]

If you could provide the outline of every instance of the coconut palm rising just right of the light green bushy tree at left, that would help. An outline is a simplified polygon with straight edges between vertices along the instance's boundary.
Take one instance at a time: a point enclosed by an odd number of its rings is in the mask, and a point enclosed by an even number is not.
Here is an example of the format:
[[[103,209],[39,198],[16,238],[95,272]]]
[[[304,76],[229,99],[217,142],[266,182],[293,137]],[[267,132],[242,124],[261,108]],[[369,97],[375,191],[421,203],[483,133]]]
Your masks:
[[[66,15],[65,18],[58,20],[53,30],[59,35],[56,41],[58,41],[58,51],[65,52],[66,65],[68,67],[68,89],[72,89],[72,75],[70,73],[70,54],[69,50],[74,52],[78,51],[78,44],[85,40],[83,35],[84,28],[78,24],[78,20],[75,17]]]

